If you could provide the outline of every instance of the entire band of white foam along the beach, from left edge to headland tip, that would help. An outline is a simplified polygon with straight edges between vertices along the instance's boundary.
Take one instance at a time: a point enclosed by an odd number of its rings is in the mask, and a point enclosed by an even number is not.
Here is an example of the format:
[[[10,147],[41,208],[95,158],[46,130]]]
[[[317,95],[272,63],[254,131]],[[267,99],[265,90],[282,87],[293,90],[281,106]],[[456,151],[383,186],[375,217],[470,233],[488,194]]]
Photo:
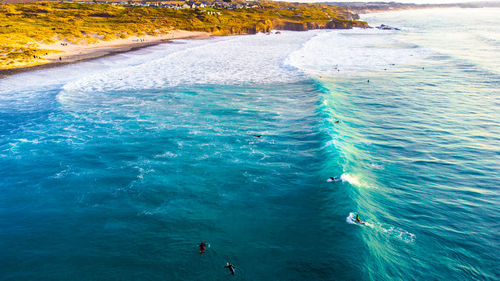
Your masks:
[[[420,51],[398,45],[390,32],[360,29],[179,40],[2,79],[0,100],[3,96],[10,103],[26,102],[26,91],[60,87],[59,102],[85,104],[88,95],[96,100],[99,92],[196,84],[288,83],[310,75],[335,77],[383,70],[415,58]],[[9,95],[2,95],[5,92]],[[14,97],[15,93],[21,94]]]

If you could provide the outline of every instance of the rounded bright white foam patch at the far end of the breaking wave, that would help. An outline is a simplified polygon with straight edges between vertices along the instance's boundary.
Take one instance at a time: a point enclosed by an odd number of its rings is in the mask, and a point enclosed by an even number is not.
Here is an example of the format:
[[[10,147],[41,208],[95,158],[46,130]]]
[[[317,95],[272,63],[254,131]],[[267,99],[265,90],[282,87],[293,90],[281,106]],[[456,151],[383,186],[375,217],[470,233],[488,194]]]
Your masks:
[[[428,53],[395,37],[395,31],[376,29],[320,32],[286,63],[309,75],[339,77],[390,70]]]

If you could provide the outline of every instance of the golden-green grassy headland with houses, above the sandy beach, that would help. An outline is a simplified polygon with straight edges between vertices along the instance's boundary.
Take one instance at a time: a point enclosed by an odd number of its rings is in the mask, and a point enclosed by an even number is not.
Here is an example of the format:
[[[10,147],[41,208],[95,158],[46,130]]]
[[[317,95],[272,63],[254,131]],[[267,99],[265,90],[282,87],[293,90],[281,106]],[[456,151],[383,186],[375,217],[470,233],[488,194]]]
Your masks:
[[[92,44],[130,36],[161,35],[171,30],[230,35],[269,32],[271,29],[366,26],[364,22],[352,20],[353,15],[345,9],[328,5],[170,3],[173,5],[142,6],[133,2],[122,5],[97,2],[2,4],[0,69],[42,64],[44,55],[57,52],[42,49],[40,44]]]

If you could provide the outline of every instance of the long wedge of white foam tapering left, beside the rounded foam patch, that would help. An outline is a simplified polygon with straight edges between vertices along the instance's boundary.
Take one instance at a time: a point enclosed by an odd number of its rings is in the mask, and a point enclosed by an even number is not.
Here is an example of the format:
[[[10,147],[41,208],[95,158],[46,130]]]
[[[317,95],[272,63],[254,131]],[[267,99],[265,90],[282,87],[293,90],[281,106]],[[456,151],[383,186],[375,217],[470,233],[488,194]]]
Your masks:
[[[158,89],[192,84],[276,83],[304,79],[283,65],[315,32],[257,34],[187,42],[183,48],[139,65],[90,75],[64,86],[67,93]]]

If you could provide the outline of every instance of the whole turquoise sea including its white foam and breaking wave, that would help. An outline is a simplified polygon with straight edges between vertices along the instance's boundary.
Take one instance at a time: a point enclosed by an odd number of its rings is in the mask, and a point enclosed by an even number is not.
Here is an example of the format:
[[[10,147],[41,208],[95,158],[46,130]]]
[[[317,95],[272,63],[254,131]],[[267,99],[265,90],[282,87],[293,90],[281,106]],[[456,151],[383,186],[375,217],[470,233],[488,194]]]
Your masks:
[[[0,279],[498,279],[498,14],[0,80]]]

